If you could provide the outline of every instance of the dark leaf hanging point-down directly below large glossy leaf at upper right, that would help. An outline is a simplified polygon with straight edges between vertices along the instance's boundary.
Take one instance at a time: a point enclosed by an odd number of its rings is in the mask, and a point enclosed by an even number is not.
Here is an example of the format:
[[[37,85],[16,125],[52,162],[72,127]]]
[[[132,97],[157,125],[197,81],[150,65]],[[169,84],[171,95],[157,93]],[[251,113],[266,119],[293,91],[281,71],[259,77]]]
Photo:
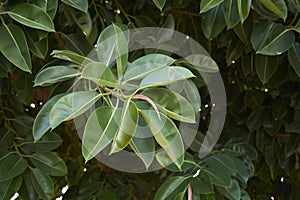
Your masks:
[[[259,80],[266,84],[278,68],[277,57],[256,55],[255,69]]]

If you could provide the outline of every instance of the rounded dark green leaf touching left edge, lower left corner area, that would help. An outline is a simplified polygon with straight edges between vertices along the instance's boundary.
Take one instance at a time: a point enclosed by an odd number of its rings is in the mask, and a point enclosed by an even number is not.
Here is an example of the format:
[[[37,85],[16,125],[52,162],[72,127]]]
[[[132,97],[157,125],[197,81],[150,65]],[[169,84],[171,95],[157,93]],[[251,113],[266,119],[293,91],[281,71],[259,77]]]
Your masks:
[[[22,174],[28,166],[27,161],[19,155],[10,154],[0,162],[0,181],[8,180]]]

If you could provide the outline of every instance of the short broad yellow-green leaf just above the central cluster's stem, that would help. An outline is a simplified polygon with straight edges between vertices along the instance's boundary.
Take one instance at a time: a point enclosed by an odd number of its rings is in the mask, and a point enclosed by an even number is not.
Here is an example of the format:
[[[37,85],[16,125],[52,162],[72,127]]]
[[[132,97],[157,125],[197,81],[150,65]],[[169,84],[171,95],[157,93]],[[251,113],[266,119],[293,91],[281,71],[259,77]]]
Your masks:
[[[82,70],[81,78],[89,79],[96,84],[115,87],[117,84],[115,75],[110,68],[101,62],[91,62]]]

